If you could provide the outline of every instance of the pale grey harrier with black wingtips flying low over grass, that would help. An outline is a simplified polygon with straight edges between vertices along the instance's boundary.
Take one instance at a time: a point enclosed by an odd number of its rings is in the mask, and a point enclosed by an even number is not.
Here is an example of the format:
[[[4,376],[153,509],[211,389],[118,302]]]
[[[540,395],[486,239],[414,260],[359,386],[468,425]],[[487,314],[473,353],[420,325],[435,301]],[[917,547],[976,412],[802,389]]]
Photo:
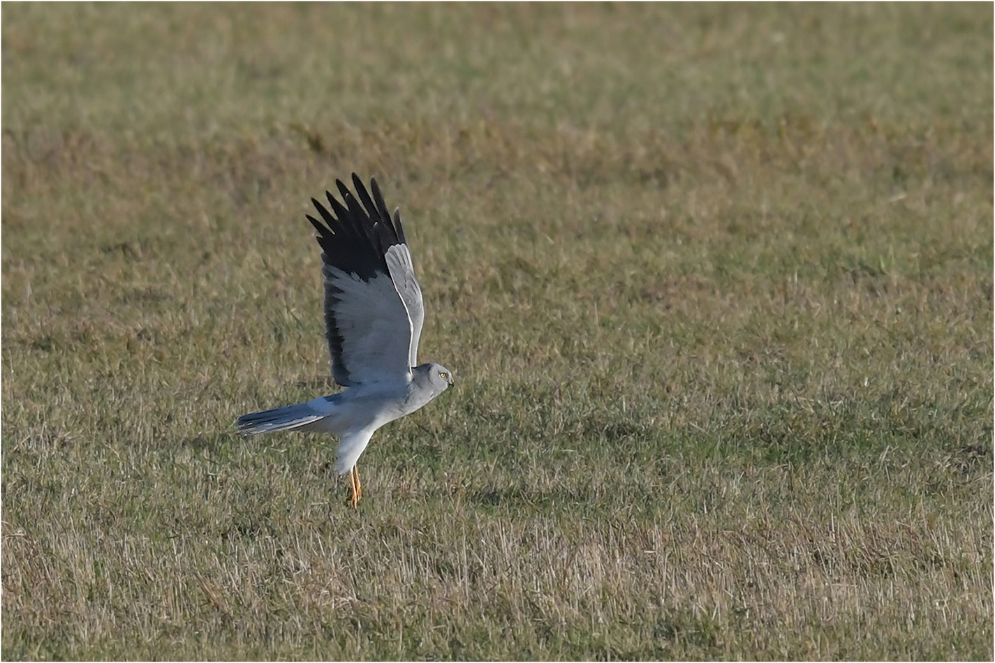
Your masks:
[[[331,375],[345,389],[245,414],[238,427],[247,435],[291,429],[337,435],[335,470],[349,474],[349,503],[355,508],[362,495],[356,460],[373,432],[452,387],[453,373],[439,364],[418,364],[425,306],[400,212],[395,210],[391,220],[374,179],[372,197],[355,173],[355,196],[341,181],[335,184],[342,203],[326,192],[329,213],[312,198],[321,221],[310,215],[307,220],[321,247]]]

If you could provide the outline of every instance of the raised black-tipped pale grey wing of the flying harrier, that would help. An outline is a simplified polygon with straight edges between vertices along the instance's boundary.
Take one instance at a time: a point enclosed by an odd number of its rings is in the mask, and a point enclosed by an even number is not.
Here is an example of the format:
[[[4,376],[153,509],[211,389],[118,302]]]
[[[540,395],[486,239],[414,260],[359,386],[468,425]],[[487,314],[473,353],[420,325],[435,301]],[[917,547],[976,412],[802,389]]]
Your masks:
[[[344,203],[327,193],[331,213],[311,199],[324,275],[324,327],[331,374],[342,387],[407,379],[415,365],[425,309],[401,217],[391,220],[376,180],[373,197],[353,173]],[[358,198],[358,200],[357,200]]]

